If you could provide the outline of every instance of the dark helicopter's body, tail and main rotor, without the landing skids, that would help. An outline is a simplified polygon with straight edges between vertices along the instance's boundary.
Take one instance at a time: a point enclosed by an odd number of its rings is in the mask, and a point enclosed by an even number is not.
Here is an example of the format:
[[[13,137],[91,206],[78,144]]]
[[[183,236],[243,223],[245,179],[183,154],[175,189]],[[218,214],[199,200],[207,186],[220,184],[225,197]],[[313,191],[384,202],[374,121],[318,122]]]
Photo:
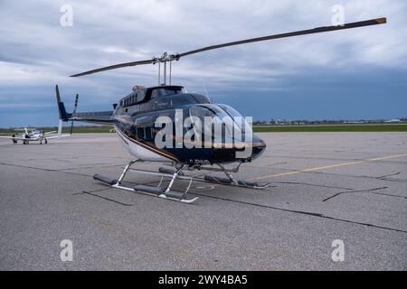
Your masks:
[[[313,29],[301,30],[291,33],[279,33],[271,34],[266,36],[260,36],[250,39],[244,39],[241,41],[234,42],[225,42],[216,45],[205,46],[203,48],[195,49],[192,51],[185,51],[182,53],[168,54],[164,52],[160,57],[154,57],[151,59],[143,61],[129,61],[124,63],[118,63],[114,65],[109,65],[95,70],[88,70],[85,72],[80,72],[71,77],[80,77],[84,75],[89,75],[93,73],[98,73],[106,70],[116,70],[124,67],[132,67],[139,65],[147,64],[156,64],[158,63],[158,83],[160,83],[161,70],[160,65],[164,66],[163,70],[163,79],[166,83],[167,74],[166,67],[169,65],[169,83],[171,83],[171,63],[173,61],[179,61],[181,58],[184,58],[188,55],[194,55],[196,53],[201,53],[204,51],[212,51],[215,49],[221,49],[225,47],[241,45],[245,43],[252,42],[263,42],[271,41],[281,38],[287,38],[292,36],[299,35],[308,35],[313,33],[327,33],[335,32],[340,30],[353,29],[356,27],[364,27],[370,25],[377,25],[386,23],[386,18],[376,18],[369,19],[364,21],[359,21],[355,23],[342,23],[332,26],[321,26]],[[235,136],[230,134],[223,137],[219,133],[213,133],[213,135],[208,135],[203,133],[205,137],[202,139],[204,143],[207,144],[208,140],[211,141],[211,145],[205,145],[204,148],[188,148],[185,145],[185,139],[180,139],[179,135],[175,134],[175,137],[172,137],[173,144],[178,144],[182,142],[181,146],[175,147],[160,147],[156,145],[156,135],[159,132],[156,129],[156,118],[167,116],[173,121],[176,118],[176,111],[182,110],[184,112],[183,120],[186,117],[198,117],[204,118],[207,116],[215,117],[241,117],[241,115],[235,111],[232,107],[225,105],[213,105],[210,103],[208,98],[205,98],[202,95],[194,93],[186,93],[182,87],[179,86],[160,86],[154,88],[137,88],[133,90],[133,93],[128,95],[126,98],[122,98],[120,102],[114,105],[114,111],[109,112],[96,112],[90,114],[67,114],[63,103],[59,97],[59,91],[57,89],[57,101],[60,109],[60,118],[62,121],[68,120],[78,120],[78,121],[87,121],[87,122],[96,122],[102,124],[111,124],[116,128],[118,135],[125,145],[128,146],[128,150],[131,154],[136,155],[137,158],[143,160],[156,160],[155,157],[151,156],[159,155],[163,157],[166,161],[172,162],[181,162],[181,163],[196,163],[196,162],[207,162],[207,163],[231,163],[231,162],[249,162],[255,157],[259,156],[261,152],[264,151],[266,145],[260,140],[260,138],[254,134],[251,134],[251,139],[244,139],[241,145],[235,145],[234,141],[236,140]],[[226,126],[226,122],[224,123]],[[240,127],[238,129],[241,132],[244,130],[242,126],[235,123]],[[61,127],[62,125],[60,125]],[[176,126],[175,126],[176,128]],[[205,125],[206,128],[206,125]],[[187,127],[182,127],[184,133],[186,133]],[[195,130],[195,126],[194,126]],[[198,129],[199,130],[199,129]],[[200,133],[198,131],[198,134]],[[230,129],[228,129],[230,132]],[[245,135],[247,130],[245,130]],[[234,134],[234,128],[233,128]],[[228,138],[228,139],[226,139]],[[227,145],[220,145],[224,143]],[[230,145],[232,143],[232,145]],[[238,142],[239,143],[239,142]],[[134,145],[133,145],[134,144]],[[187,143],[186,143],[187,144]],[[240,151],[245,148],[251,148],[251,154],[242,156]],[[150,157],[151,156],[151,157]],[[159,159],[162,161],[162,159]]]

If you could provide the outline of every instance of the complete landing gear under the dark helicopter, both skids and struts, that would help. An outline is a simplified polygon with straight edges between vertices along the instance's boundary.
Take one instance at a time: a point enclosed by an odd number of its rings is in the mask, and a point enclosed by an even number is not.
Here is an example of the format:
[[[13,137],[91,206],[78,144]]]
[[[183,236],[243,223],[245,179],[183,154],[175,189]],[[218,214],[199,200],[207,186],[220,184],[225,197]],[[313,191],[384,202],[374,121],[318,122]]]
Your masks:
[[[181,201],[184,203],[193,203],[195,200],[198,200],[198,197],[195,197],[193,199],[188,199],[186,198],[186,193],[189,191],[191,188],[192,182],[210,182],[210,183],[216,183],[220,185],[228,185],[228,186],[234,186],[234,187],[242,187],[242,188],[248,188],[248,189],[265,189],[269,187],[269,183],[267,182],[248,182],[248,181],[241,181],[241,180],[235,180],[232,177],[232,174],[230,172],[237,172],[236,170],[227,170],[225,169],[221,164],[218,164],[220,169],[213,169],[210,168],[208,169],[209,171],[215,171],[215,172],[224,172],[227,176],[227,178],[220,178],[220,177],[215,177],[212,175],[204,175],[204,177],[194,177],[194,176],[188,176],[185,175],[185,172],[182,171],[184,165],[180,164],[179,166],[176,166],[175,169],[172,168],[164,168],[161,167],[159,168],[158,172],[155,171],[147,171],[147,170],[140,170],[140,169],[130,169],[130,167],[134,163],[140,163],[141,161],[131,161],[128,163],[128,165],[125,167],[123,172],[120,174],[118,180],[116,179],[110,179],[108,177],[95,174],[93,176],[93,179],[98,180],[100,182],[103,182],[107,185],[109,185],[112,188],[115,189],[120,189],[120,190],[125,190],[125,191],[134,191],[138,193],[143,193],[149,196],[154,196],[162,199],[167,199],[167,200],[175,200],[175,201]],[[201,170],[206,170],[205,168],[201,168]],[[158,183],[157,186],[149,186],[146,184],[141,184],[137,183],[136,185],[130,187],[126,186],[125,183],[123,182],[126,174],[128,172],[136,172],[138,174],[149,174],[149,175],[156,175],[161,177],[161,181]],[[171,181],[169,184],[164,188],[161,185],[163,184],[163,181],[165,178],[169,178]],[[176,180],[186,180],[189,181],[189,184],[185,191],[174,191],[172,190],[172,187],[174,185],[174,182]]]

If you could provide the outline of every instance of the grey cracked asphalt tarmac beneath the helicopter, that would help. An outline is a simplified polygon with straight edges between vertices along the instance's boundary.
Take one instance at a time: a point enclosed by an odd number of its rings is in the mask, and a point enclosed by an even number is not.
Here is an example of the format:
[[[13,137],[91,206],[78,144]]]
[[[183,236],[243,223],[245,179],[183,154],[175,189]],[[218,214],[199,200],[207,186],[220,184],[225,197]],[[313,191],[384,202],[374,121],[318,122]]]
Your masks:
[[[131,159],[115,134],[0,140],[0,270],[407,269],[407,134],[260,137],[265,154],[237,177],[270,187],[194,182],[194,204],[93,180]]]

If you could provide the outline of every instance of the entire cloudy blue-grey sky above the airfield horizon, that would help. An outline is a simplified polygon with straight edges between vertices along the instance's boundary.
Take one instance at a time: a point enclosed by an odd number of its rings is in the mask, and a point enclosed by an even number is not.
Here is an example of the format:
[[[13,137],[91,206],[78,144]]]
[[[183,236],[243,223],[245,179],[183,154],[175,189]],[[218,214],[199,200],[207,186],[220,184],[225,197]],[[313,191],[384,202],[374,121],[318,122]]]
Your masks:
[[[245,38],[385,16],[388,23],[207,51],[173,65],[173,83],[254,119],[407,117],[403,0],[0,0],[0,127],[56,126],[54,85],[71,109],[109,110],[157,65],[68,76]],[[62,26],[63,5],[72,25]]]

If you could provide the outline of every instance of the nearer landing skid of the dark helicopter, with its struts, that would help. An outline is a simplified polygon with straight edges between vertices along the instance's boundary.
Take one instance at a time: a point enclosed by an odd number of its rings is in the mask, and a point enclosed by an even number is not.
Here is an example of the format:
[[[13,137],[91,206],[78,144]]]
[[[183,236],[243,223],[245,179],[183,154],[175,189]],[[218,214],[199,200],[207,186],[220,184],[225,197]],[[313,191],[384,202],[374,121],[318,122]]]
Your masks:
[[[125,190],[125,191],[135,191],[135,192],[147,194],[147,195],[150,195],[150,196],[155,196],[155,197],[162,198],[162,199],[176,200],[176,201],[181,201],[181,202],[184,202],[184,203],[192,203],[195,200],[198,200],[198,197],[195,197],[193,199],[186,198],[186,193],[191,188],[191,184],[193,182],[192,178],[190,178],[189,185],[188,185],[188,187],[186,188],[185,191],[173,191],[173,190],[171,190],[171,188],[174,185],[175,180],[179,179],[178,174],[180,174],[181,169],[183,168],[183,165],[178,167],[173,174],[169,174],[169,175],[168,174],[161,174],[161,181],[159,182],[158,186],[156,186],[156,187],[145,185],[145,184],[136,184],[133,187],[125,186],[123,180],[124,180],[126,174],[128,173],[130,167],[134,163],[138,163],[138,162],[139,161],[136,160],[136,161],[131,161],[130,163],[128,163],[128,165],[125,167],[123,172],[121,172],[118,180],[109,179],[108,177],[101,176],[99,174],[95,174],[93,176],[93,179],[98,180],[100,182],[104,182],[104,183],[108,184],[109,186],[111,186],[112,188]],[[141,171],[141,170],[131,170],[131,172],[141,172],[141,173],[146,172],[146,173],[148,173],[148,171]],[[170,177],[171,181],[166,186],[166,188],[163,188],[163,187],[161,187],[161,185],[162,185],[163,180],[164,180],[165,177]]]

